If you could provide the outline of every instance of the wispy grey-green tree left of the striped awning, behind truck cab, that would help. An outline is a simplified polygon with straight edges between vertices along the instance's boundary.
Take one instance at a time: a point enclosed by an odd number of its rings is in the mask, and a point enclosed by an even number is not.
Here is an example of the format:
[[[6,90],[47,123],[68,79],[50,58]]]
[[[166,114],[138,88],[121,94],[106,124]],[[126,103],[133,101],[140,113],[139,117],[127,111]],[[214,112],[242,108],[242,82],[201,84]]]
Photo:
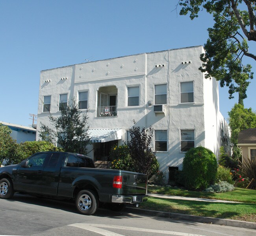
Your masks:
[[[87,130],[87,113],[81,115],[82,111],[78,109],[78,105],[73,101],[68,102],[67,108],[61,107],[61,115],[54,117],[49,115],[50,123],[55,129],[49,128],[41,123],[39,137],[43,141],[58,140],[58,144],[66,152],[75,152],[87,154],[86,146],[90,143]]]

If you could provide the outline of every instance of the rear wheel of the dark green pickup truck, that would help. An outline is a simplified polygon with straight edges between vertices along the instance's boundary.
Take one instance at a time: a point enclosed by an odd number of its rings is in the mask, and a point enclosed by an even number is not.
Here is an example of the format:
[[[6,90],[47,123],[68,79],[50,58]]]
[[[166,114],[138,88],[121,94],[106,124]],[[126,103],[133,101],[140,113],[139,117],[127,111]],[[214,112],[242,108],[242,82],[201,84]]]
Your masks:
[[[81,190],[76,196],[76,208],[84,215],[92,215],[98,209],[99,200],[97,194],[91,190]]]

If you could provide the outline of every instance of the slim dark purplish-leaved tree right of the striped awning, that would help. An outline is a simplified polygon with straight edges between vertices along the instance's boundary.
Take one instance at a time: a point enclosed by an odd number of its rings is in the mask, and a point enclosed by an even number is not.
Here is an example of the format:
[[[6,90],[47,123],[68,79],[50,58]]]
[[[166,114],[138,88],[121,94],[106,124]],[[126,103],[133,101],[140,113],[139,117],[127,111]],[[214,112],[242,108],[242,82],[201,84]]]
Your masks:
[[[134,124],[136,124],[135,121]],[[152,127],[141,129],[134,125],[129,132],[131,140],[127,145],[134,161],[134,170],[151,177],[159,168],[156,154],[150,146],[154,130]]]

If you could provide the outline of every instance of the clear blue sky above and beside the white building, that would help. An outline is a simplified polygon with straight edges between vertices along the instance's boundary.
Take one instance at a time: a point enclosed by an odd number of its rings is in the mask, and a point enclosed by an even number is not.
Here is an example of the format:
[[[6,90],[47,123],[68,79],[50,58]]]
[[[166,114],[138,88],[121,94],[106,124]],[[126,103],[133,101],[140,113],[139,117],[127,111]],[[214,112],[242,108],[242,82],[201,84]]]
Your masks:
[[[191,21],[178,0],[0,0],[0,121],[31,125],[40,71],[125,55],[204,45],[210,15]],[[254,47],[254,48],[253,48]],[[256,52],[256,44],[252,44]],[[254,67],[256,63],[248,59]],[[255,77],[254,76],[254,77]],[[256,79],[244,100],[256,110]],[[220,88],[220,110],[238,102]]]

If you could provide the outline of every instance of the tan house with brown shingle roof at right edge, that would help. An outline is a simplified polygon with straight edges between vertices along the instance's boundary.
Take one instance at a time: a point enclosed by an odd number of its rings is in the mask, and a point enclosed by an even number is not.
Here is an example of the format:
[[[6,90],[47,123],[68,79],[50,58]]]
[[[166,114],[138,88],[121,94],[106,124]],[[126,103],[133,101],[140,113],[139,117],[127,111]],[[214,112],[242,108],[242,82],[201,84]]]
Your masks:
[[[238,134],[238,144],[242,151],[242,160],[256,158],[256,128],[243,130]]]

